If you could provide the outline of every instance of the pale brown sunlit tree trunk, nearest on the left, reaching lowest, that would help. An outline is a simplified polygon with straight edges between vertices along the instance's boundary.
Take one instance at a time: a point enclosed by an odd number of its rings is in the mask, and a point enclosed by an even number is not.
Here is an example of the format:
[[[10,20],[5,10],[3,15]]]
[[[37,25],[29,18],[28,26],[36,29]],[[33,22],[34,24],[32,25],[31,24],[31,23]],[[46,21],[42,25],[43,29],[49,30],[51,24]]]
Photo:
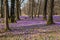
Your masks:
[[[5,14],[5,19],[4,19],[4,21],[5,21],[5,30],[7,31],[7,30],[10,30],[9,24],[8,24],[8,7],[7,7],[8,0],[4,0],[3,3],[4,3],[4,14]]]

